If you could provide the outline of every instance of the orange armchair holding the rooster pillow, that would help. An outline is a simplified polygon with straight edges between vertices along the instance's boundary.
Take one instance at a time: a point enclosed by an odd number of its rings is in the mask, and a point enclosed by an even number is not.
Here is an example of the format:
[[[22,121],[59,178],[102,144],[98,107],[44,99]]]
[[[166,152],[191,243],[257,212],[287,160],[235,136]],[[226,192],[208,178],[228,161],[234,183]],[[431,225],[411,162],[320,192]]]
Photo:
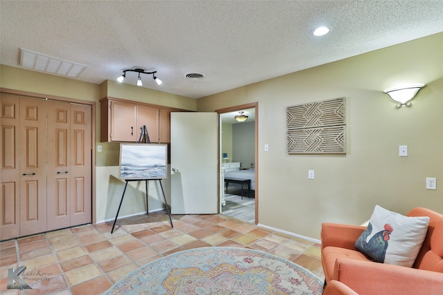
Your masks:
[[[324,223],[321,260],[325,283],[338,280],[361,295],[442,294],[443,215],[424,208],[415,208],[406,215],[430,218],[412,268],[374,263],[357,251],[354,244],[365,227]]]

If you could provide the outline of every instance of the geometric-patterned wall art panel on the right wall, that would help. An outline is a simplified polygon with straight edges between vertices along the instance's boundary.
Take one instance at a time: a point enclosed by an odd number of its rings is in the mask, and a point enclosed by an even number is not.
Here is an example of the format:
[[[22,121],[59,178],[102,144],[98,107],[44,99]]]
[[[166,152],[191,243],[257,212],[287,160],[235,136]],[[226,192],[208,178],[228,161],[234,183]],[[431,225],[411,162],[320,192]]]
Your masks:
[[[287,152],[346,153],[345,97],[287,107]]]

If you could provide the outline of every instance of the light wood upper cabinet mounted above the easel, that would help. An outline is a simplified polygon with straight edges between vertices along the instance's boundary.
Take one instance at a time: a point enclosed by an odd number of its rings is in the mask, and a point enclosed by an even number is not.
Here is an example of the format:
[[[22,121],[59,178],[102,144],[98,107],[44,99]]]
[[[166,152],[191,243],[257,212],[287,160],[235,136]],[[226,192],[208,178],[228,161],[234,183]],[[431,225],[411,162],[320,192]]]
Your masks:
[[[185,110],[110,97],[101,99],[100,141],[138,142],[146,126],[150,142],[169,143],[172,111]]]

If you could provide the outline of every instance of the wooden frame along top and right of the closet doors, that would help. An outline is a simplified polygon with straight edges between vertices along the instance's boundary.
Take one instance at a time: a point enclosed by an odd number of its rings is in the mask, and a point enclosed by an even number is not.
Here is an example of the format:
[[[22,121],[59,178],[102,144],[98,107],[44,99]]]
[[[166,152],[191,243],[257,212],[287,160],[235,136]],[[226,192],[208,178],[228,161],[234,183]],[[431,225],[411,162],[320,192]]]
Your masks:
[[[91,224],[95,225],[97,221],[97,205],[96,205],[96,102],[90,100],[82,100],[68,97],[61,97],[56,95],[45,95],[42,93],[34,93],[29,91],[19,91],[9,88],[0,88],[0,92],[14,95],[22,95],[26,97],[35,97],[41,99],[58,100],[61,102],[70,102],[73,104],[84,104],[91,106]]]

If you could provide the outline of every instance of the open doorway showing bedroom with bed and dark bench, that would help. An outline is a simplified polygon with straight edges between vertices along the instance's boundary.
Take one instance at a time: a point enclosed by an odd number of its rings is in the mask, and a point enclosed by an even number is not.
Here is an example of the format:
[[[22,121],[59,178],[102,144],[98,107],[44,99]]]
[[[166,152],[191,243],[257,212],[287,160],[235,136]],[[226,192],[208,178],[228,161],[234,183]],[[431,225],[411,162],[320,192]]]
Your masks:
[[[257,105],[217,111],[220,137],[220,213],[257,223]],[[246,120],[235,120],[244,115]]]

